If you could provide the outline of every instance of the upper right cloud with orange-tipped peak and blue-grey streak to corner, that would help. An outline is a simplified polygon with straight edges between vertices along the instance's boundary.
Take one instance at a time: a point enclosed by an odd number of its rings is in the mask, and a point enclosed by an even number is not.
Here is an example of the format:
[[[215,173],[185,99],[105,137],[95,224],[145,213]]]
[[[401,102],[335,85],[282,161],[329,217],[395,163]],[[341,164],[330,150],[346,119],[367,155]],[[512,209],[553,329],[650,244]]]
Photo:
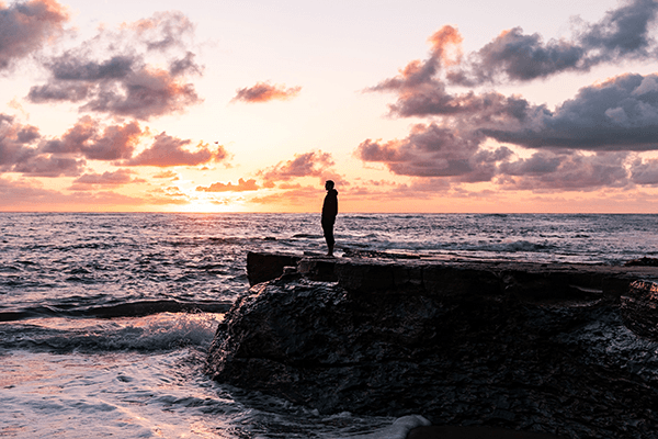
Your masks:
[[[458,31],[446,25],[429,38],[428,59],[409,63],[398,76],[368,90],[397,93],[397,103],[389,105],[396,116],[473,112],[488,105],[496,93],[453,94],[446,90],[447,86],[531,81],[563,71],[587,71],[602,63],[654,59],[658,52],[649,35],[649,24],[655,21],[657,10],[658,2],[654,0],[632,1],[608,12],[598,23],[583,24],[570,41],[544,43],[541,35],[527,35],[514,27],[467,56],[462,56]],[[519,99],[513,104],[522,110],[526,103]]]

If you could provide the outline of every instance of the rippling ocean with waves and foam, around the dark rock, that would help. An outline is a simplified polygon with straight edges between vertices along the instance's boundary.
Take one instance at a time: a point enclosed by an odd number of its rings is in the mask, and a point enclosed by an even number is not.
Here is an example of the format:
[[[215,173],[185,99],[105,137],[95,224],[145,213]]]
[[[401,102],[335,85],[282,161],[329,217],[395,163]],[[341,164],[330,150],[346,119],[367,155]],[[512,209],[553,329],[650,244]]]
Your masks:
[[[656,257],[657,229],[658,215],[339,214],[336,254],[622,264]],[[0,437],[393,438],[393,418],[203,373],[247,252],[325,250],[318,214],[0,213]]]

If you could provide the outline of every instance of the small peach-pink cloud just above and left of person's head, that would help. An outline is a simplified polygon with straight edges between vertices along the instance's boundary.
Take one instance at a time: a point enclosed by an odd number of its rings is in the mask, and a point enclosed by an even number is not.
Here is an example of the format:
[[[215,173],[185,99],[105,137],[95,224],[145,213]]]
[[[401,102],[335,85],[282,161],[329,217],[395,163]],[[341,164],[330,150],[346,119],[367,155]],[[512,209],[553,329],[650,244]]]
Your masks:
[[[333,166],[331,155],[322,151],[296,154],[292,160],[280,161],[275,166],[259,172],[266,188],[272,188],[274,182],[290,181],[299,177],[322,177]]]

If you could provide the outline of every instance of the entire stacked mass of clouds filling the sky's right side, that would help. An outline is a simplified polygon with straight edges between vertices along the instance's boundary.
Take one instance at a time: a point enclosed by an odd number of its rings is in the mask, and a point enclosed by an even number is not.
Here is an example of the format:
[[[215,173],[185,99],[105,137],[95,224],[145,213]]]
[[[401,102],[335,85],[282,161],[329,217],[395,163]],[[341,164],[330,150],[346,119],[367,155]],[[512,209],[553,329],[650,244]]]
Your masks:
[[[654,161],[629,160],[637,151],[658,149],[658,75],[621,75],[583,87],[554,110],[519,95],[450,87],[531,81],[601,63],[654,60],[658,50],[649,30],[657,10],[656,1],[623,3],[597,23],[580,23],[570,40],[544,42],[515,27],[468,56],[461,53],[457,30],[444,26],[429,38],[428,59],[409,63],[398,76],[370,89],[396,93],[393,116],[434,122],[416,125],[401,140],[366,139],[355,156],[396,175],[492,181],[509,189],[655,184]],[[486,147],[488,138],[535,153],[519,158],[509,147]]]

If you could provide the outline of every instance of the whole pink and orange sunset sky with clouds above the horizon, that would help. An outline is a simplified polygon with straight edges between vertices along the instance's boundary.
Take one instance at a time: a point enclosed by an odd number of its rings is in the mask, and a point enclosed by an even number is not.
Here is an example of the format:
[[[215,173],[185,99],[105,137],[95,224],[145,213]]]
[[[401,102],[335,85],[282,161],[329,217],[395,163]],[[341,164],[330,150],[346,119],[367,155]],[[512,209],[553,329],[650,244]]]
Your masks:
[[[658,213],[657,13],[0,1],[0,211]]]

